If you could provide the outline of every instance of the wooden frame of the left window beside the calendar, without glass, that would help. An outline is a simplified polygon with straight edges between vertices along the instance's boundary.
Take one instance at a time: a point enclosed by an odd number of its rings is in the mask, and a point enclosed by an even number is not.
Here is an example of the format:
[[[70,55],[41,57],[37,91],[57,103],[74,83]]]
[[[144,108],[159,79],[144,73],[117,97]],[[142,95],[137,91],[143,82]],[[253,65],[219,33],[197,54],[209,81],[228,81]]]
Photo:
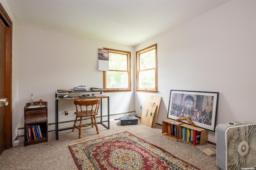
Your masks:
[[[104,89],[104,93],[105,92],[120,92],[120,91],[132,91],[131,87],[132,87],[132,81],[131,81],[131,52],[130,51],[122,51],[122,50],[118,50],[118,49],[110,49],[110,48],[103,48],[109,51],[109,53],[122,53],[122,54],[126,54],[127,56],[127,72],[128,72],[128,88],[111,88],[111,89],[107,89],[107,76],[106,76],[106,71],[103,71],[103,89]],[[116,71],[116,70],[110,70],[110,71]],[[122,71],[124,72],[124,71]],[[126,72],[126,71],[125,71]]]

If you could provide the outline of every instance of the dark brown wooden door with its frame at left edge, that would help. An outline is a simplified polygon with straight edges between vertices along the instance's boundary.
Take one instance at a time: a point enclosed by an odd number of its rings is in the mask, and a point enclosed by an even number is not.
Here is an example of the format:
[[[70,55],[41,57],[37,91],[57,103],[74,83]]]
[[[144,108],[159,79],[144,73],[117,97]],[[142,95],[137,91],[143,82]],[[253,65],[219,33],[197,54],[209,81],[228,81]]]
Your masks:
[[[0,107],[0,154],[12,146],[12,21],[0,4],[0,99],[9,100]]]

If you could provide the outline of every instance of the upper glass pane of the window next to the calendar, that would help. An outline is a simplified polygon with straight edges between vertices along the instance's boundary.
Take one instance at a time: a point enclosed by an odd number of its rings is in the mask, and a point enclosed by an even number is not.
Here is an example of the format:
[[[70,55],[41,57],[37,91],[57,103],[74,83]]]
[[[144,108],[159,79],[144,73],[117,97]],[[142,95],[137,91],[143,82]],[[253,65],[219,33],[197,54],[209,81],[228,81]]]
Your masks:
[[[127,55],[109,52],[109,69],[127,71]]]

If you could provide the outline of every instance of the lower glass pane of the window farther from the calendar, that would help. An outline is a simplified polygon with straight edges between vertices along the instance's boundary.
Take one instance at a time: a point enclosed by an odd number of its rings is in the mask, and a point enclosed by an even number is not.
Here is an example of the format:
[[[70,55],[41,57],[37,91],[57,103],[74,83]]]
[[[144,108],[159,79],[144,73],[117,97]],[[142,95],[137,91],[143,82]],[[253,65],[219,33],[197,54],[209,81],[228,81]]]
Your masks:
[[[155,69],[139,72],[139,88],[155,88]]]

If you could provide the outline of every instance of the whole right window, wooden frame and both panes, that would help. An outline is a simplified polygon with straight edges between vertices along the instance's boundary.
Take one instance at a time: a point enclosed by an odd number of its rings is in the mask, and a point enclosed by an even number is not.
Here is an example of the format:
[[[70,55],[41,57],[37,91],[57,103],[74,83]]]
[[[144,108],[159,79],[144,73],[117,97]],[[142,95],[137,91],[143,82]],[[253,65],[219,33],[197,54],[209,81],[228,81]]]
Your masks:
[[[157,93],[157,44],[136,52],[136,91]]]

